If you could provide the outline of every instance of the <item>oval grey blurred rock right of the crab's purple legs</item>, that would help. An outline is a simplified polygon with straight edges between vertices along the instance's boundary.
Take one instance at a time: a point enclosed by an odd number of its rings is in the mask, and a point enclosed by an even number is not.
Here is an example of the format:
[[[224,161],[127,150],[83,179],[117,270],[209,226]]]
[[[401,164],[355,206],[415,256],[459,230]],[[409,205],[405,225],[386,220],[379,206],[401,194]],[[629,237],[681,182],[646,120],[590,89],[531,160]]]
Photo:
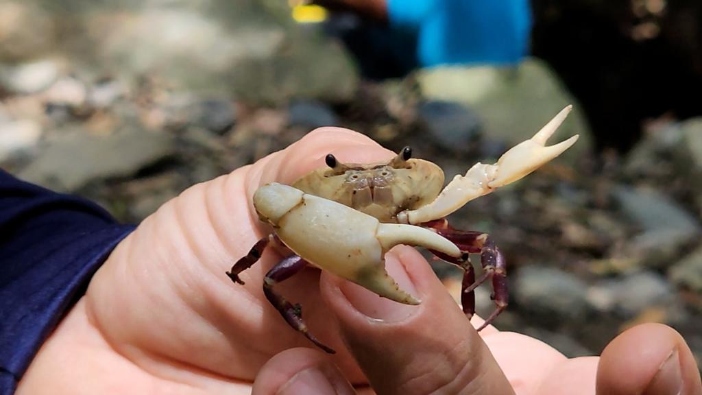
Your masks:
[[[512,294],[524,310],[556,322],[582,318],[588,307],[583,280],[548,266],[520,268]]]

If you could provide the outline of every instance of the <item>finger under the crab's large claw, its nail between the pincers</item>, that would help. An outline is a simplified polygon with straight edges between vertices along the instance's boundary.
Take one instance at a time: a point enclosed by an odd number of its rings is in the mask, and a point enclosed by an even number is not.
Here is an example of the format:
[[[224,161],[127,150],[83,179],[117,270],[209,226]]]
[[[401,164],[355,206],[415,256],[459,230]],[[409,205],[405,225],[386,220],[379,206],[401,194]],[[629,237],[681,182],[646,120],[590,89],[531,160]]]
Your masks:
[[[390,276],[420,305],[381,299],[326,273],[322,278],[324,299],[371,387],[378,394],[514,394],[425,259],[410,247],[386,259]]]

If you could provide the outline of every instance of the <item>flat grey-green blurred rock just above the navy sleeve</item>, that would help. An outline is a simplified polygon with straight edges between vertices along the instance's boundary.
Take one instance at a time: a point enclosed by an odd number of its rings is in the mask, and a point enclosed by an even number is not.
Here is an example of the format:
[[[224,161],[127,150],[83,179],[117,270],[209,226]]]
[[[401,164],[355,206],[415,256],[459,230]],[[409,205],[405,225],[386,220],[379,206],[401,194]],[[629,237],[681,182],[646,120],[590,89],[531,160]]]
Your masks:
[[[170,135],[135,124],[124,124],[107,136],[66,131],[46,143],[18,176],[61,191],[74,191],[95,179],[129,176],[175,153]]]

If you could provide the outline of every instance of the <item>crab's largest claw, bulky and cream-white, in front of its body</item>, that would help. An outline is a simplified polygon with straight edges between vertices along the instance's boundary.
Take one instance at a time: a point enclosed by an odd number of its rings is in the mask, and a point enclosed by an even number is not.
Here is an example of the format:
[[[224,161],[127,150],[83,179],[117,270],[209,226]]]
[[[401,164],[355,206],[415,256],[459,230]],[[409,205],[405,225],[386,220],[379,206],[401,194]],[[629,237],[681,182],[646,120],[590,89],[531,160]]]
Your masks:
[[[380,224],[378,219],[291,186],[258,188],[253,205],[280,240],[314,266],[404,304],[419,304],[385,271],[385,252],[398,244],[419,245],[460,257],[449,240],[425,228]]]

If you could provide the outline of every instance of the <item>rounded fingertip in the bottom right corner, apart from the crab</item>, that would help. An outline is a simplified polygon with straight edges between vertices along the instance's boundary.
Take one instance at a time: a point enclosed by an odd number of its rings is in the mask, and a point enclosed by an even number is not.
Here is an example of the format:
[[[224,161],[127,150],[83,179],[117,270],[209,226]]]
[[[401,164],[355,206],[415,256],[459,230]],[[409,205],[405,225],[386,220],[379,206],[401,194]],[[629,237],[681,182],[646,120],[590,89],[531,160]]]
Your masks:
[[[674,369],[665,368],[670,356],[677,356]],[[664,369],[665,368],[665,369]],[[684,394],[702,394],[702,385],[694,356],[682,336],[668,325],[647,323],[626,330],[602,351],[597,368],[597,394],[645,394],[662,379],[658,373],[678,379],[663,380],[670,393],[682,385]],[[682,383],[680,383],[682,380]],[[675,382],[677,381],[677,383]],[[673,388],[675,387],[675,388]]]

